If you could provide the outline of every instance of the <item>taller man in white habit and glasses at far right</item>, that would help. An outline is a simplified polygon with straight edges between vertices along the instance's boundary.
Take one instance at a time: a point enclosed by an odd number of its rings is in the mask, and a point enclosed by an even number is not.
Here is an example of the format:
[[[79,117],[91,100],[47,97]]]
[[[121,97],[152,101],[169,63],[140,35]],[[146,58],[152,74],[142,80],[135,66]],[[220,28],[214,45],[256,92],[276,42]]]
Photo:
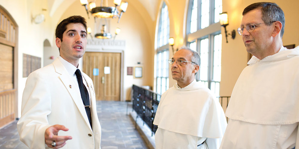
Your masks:
[[[284,25],[275,3],[244,9],[237,32],[253,56],[233,89],[221,149],[299,147],[299,47],[283,47]]]

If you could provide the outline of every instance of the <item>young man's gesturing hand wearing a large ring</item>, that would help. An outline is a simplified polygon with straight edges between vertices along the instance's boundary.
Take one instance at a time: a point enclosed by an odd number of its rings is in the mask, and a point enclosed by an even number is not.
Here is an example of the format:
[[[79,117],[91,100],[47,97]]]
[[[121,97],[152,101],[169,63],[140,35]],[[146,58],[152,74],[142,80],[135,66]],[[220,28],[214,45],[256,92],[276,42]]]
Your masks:
[[[67,140],[72,139],[71,136],[57,136],[58,131],[68,131],[68,128],[65,128],[63,125],[53,125],[46,129],[45,131],[45,143],[49,148],[61,148],[63,147]],[[52,142],[56,142],[56,146],[53,147]]]

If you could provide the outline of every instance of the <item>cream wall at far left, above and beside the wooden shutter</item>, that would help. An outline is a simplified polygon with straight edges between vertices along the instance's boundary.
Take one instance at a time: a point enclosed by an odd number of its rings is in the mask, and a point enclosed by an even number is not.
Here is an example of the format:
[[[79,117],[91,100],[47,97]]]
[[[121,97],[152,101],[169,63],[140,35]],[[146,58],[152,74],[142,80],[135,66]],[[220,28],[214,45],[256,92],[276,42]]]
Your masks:
[[[42,58],[43,63],[43,42],[50,39],[48,23],[51,21],[49,15],[45,14],[45,21],[41,24],[31,22],[32,16],[42,12],[42,8],[48,9],[45,0],[0,0],[0,5],[4,7],[8,13],[16,21],[19,27],[18,35],[18,112],[16,117],[21,116],[21,99],[25,87],[26,77],[23,78],[23,53]],[[38,9],[37,9],[38,8]],[[43,64],[42,64],[43,65]]]

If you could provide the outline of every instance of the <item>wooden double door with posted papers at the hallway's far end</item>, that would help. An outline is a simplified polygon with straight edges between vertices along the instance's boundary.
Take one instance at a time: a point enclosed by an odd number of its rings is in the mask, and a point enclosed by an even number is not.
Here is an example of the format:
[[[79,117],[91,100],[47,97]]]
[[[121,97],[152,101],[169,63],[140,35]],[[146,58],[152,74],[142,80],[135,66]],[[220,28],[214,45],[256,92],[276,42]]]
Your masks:
[[[120,58],[120,53],[85,52],[83,72],[94,83],[96,100],[120,101]]]

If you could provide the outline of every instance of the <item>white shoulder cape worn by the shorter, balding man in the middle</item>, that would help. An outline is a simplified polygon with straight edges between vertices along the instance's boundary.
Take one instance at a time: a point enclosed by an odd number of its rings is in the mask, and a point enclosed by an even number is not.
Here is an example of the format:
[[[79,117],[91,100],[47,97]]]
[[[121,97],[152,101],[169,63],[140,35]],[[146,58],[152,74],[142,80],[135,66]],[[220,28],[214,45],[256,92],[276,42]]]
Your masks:
[[[201,81],[184,88],[176,83],[161,96],[153,122],[181,134],[222,138],[227,125],[219,100]]]

